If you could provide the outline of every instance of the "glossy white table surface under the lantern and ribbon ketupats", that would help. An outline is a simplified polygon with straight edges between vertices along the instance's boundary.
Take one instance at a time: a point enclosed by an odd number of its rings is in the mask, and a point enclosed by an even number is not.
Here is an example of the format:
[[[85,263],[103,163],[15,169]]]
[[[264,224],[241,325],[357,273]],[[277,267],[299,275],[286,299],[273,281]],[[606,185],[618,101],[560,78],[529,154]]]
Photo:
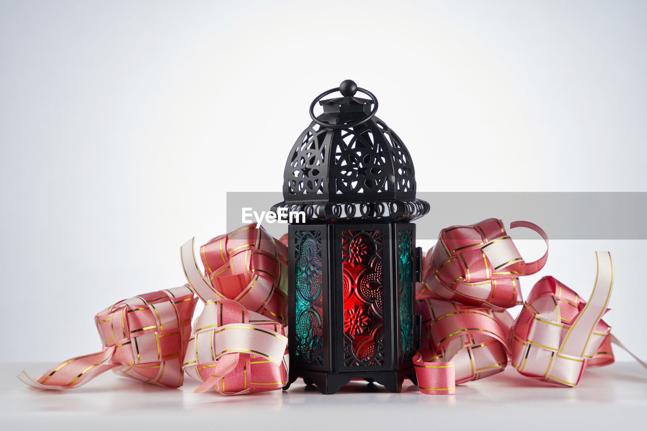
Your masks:
[[[458,386],[455,395],[422,395],[412,384],[388,393],[363,382],[322,395],[299,380],[287,392],[226,397],[193,393],[197,382],[191,379],[173,390],[111,372],[60,392],[27,388],[15,377],[23,369],[38,375],[52,365],[0,364],[2,430],[611,430],[644,429],[647,412],[647,371],[635,362],[591,368],[576,388],[532,381],[509,367]]]

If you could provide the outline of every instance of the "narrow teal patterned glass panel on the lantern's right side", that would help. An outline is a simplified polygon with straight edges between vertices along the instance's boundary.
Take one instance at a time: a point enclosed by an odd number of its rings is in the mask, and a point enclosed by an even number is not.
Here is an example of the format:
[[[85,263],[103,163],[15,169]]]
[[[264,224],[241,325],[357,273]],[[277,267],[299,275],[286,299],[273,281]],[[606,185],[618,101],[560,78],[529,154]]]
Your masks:
[[[413,247],[411,230],[398,232],[398,297],[400,311],[400,362],[413,355],[413,316],[411,290],[413,289]]]

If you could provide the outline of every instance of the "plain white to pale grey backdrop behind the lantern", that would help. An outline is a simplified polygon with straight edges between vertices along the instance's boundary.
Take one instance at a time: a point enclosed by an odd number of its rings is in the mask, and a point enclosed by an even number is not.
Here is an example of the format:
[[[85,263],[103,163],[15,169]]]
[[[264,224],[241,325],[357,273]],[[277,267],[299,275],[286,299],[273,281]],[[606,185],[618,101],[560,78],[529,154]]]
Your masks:
[[[179,246],[225,233],[226,192],[281,190],[345,78],[418,190],[647,191],[646,22],[639,1],[3,1],[0,360],[98,351],[96,312],[183,284]],[[646,245],[554,241],[523,292],[587,296],[611,250],[606,320],[647,357]]]

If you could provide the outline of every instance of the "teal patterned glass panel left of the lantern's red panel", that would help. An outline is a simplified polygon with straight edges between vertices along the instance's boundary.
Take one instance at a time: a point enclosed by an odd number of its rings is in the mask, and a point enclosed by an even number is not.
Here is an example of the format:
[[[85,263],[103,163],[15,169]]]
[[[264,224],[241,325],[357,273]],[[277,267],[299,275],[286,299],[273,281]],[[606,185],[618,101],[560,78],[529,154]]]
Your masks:
[[[294,233],[296,245],[296,362],[323,365],[322,238],[318,230]]]

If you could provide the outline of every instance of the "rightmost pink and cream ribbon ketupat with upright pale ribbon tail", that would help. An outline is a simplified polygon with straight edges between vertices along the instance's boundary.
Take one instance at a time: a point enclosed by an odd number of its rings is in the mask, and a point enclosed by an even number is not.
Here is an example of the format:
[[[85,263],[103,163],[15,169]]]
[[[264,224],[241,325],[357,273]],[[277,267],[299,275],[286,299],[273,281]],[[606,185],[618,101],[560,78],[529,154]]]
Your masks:
[[[512,366],[521,374],[575,386],[589,360],[598,366],[613,362],[611,327],[602,320],[613,287],[613,263],[608,252],[596,256],[597,277],[588,302],[550,276],[532,288],[510,331]],[[603,343],[605,349],[597,355]]]

